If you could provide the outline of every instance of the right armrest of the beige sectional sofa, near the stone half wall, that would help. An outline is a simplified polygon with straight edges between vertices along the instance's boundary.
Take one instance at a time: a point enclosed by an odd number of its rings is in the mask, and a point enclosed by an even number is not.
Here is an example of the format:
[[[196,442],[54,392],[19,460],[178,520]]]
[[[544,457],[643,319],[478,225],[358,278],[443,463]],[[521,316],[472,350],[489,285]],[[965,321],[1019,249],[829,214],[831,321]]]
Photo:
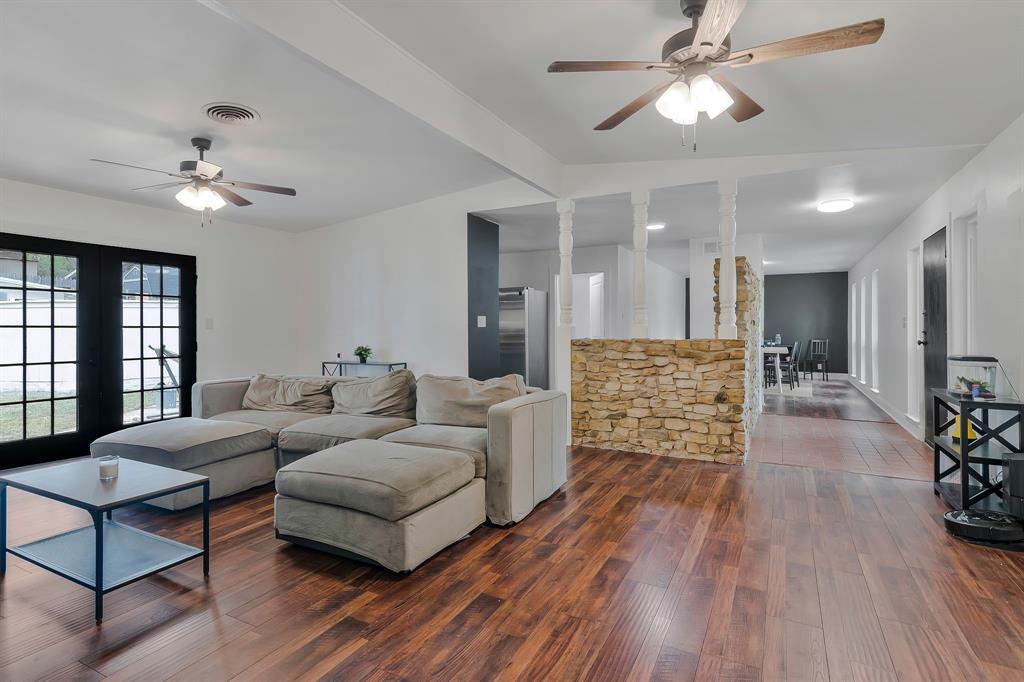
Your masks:
[[[521,520],[565,482],[566,400],[561,391],[537,391],[487,411],[492,523]]]

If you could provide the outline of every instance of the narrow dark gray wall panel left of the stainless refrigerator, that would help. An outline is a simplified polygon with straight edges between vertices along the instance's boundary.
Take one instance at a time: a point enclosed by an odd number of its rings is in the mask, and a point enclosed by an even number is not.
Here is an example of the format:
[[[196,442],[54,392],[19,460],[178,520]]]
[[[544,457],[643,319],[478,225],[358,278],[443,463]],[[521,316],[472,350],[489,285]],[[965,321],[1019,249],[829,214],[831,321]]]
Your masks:
[[[501,373],[498,348],[498,225],[468,215],[469,376],[489,379]],[[476,326],[485,315],[487,326]]]

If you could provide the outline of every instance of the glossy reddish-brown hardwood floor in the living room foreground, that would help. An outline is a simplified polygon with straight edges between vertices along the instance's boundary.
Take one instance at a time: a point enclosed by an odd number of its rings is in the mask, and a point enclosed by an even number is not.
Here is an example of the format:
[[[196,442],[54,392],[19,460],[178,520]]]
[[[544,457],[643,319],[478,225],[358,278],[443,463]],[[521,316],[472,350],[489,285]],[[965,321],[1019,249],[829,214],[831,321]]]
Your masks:
[[[404,578],[275,540],[272,496],[214,503],[209,583],[193,562],[113,592],[99,627],[90,593],[12,558],[0,679],[1024,679],[1024,555],[948,537],[927,482],[575,450],[521,523]],[[84,522],[9,508],[12,542]]]

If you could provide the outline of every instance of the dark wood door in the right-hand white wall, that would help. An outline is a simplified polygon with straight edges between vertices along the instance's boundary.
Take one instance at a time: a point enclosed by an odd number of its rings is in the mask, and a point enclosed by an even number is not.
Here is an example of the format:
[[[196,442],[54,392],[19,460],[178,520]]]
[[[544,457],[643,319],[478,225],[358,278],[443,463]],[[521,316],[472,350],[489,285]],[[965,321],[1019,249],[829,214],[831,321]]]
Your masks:
[[[925,439],[932,442],[934,415],[929,391],[946,385],[946,228],[925,240],[924,265],[925,319]]]

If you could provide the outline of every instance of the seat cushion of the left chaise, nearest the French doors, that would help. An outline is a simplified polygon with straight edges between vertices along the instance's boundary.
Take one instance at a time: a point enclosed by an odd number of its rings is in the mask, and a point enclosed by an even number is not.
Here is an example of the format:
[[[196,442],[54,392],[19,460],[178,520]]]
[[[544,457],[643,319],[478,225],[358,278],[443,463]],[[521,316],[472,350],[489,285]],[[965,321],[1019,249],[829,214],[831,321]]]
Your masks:
[[[270,433],[260,426],[182,417],[109,433],[92,441],[89,452],[187,470],[269,447]]]

